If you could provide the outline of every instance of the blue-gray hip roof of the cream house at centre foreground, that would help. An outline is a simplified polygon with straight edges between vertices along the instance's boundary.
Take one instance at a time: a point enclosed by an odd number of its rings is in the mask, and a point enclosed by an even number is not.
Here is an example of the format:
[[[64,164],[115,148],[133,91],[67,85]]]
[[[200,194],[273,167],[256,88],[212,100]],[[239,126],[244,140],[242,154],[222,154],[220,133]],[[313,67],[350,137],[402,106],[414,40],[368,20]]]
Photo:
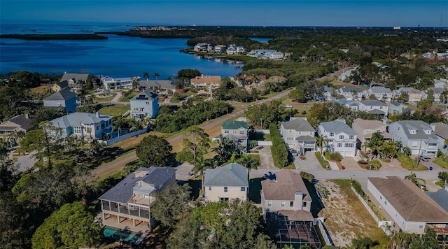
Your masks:
[[[207,169],[204,186],[248,187],[246,167],[232,162],[215,169]]]

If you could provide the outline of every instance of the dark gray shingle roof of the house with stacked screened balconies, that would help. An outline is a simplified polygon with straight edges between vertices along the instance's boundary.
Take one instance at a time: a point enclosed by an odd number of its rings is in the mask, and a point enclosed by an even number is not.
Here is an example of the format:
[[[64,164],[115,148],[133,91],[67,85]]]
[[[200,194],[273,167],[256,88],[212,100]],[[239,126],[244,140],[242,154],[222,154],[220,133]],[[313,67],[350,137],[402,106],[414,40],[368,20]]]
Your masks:
[[[141,176],[136,173],[140,171],[146,171],[146,175]],[[131,173],[127,178],[123,179],[117,185],[113,186],[110,190],[104,193],[98,199],[115,201],[123,204],[127,204],[134,192],[134,185],[139,181],[152,185],[156,190],[176,173],[176,169],[170,167],[156,167],[151,168],[139,168],[134,173]]]

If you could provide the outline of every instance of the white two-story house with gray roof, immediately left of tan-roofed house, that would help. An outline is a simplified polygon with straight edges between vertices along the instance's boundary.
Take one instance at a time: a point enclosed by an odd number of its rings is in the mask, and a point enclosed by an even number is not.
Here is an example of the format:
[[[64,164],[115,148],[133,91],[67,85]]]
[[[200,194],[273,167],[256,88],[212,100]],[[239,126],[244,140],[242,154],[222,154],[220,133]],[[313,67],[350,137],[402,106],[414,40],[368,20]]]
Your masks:
[[[345,120],[321,122],[317,132],[319,136],[326,136],[328,148],[332,153],[339,152],[343,157],[356,155],[357,136],[355,131],[346,125]]]

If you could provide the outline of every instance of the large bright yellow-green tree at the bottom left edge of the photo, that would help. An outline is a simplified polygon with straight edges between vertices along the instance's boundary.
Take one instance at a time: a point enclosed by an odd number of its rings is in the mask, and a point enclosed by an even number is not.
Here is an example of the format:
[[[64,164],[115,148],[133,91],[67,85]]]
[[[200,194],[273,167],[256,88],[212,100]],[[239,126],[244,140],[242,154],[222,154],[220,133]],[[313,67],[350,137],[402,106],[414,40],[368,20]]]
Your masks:
[[[97,246],[101,227],[82,202],[65,204],[36,229],[33,248],[79,248]]]

